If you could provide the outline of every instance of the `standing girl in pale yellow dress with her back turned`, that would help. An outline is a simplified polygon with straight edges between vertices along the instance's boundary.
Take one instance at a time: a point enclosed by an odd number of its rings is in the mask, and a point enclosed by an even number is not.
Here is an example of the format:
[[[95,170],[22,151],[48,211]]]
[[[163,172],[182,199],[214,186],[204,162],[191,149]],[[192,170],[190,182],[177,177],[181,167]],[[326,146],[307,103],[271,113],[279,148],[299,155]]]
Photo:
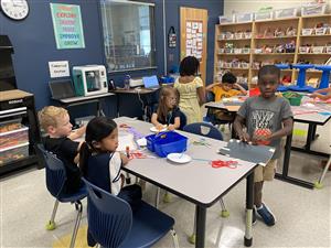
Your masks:
[[[180,64],[180,77],[173,87],[180,93],[180,109],[185,114],[188,123],[201,122],[201,106],[205,101],[202,79],[196,76],[200,62],[194,56],[186,56]]]

